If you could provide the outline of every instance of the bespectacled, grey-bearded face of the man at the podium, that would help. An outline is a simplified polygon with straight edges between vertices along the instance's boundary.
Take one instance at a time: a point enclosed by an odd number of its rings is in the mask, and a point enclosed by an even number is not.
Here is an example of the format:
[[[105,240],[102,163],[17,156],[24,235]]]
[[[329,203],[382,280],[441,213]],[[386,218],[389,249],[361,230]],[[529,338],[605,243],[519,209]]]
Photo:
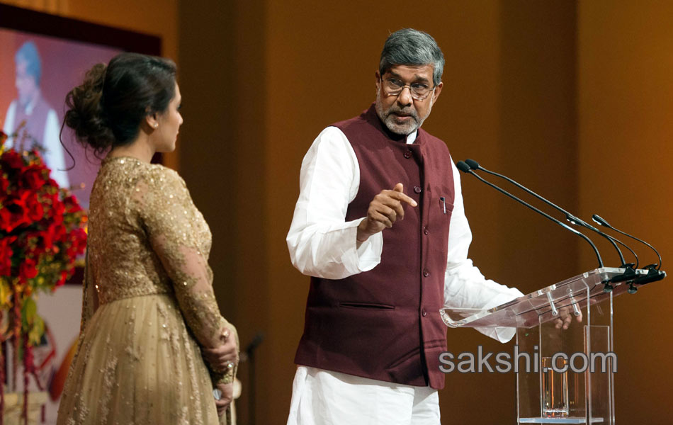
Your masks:
[[[391,132],[397,135],[409,135],[419,128],[428,118],[432,105],[441,92],[442,83],[434,86],[432,82],[433,67],[426,65],[395,65],[383,76],[377,71],[376,77],[376,113]],[[397,95],[388,95],[381,83],[388,79],[395,79],[401,84],[422,84],[434,87],[429,96],[422,101],[412,98],[409,86],[402,89]]]

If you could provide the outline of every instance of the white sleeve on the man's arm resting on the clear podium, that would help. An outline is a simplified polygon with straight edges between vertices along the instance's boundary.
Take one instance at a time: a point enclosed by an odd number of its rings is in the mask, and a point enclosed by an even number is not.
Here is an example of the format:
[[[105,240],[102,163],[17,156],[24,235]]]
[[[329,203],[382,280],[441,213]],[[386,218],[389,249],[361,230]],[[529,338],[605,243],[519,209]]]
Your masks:
[[[444,307],[464,307],[488,309],[521,297],[524,294],[516,288],[507,288],[493,280],[487,280],[479,269],[468,259],[468,249],[472,242],[472,232],[465,217],[463,192],[460,188],[460,175],[453,165],[453,181],[456,196],[451,212],[451,231],[448,232],[448,259],[444,276]],[[482,334],[500,342],[509,341],[515,333],[514,328],[477,328]]]

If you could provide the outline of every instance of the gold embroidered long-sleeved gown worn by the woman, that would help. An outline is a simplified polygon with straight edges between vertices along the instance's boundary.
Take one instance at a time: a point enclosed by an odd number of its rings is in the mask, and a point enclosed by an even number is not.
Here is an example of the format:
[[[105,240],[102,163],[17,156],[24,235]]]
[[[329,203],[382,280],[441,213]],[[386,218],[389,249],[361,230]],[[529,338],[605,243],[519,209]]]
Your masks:
[[[199,344],[225,325],[208,266],[210,229],[171,169],[108,158],[91,191],[79,347],[58,425],[218,424]],[[227,415],[222,423],[226,423]]]

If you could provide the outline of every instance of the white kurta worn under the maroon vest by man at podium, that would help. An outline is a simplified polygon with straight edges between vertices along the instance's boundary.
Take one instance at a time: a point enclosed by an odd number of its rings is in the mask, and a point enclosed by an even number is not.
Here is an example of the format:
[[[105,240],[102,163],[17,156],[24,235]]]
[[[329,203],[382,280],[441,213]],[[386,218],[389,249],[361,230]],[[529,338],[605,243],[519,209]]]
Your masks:
[[[409,135],[407,143],[413,143],[416,135],[417,132]],[[487,280],[468,259],[472,232],[465,217],[460,175],[453,162],[446,166],[453,169],[455,198],[448,234],[444,305],[490,308],[522,296],[516,288]],[[346,210],[359,185],[358,159],[346,135],[336,127],[325,128],[302,161],[300,195],[287,237],[290,259],[299,271],[308,276],[341,279],[369,271],[380,263],[385,230],[358,248],[357,227],[365,217],[346,222]],[[477,330],[502,342],[514,336],[511,328]],[[300,365],[288,425],[439,424],[436,396],[436,390],[427,387],[368,380]],[[373,399],[379,401],[373,404]],[[338,409],[333,404],[338,404]],[[392,406],[406,406],[408,414]],[[343,412],[356,412],[356,416],[348,419]],[[392,415],[389,417],[385,412]]]

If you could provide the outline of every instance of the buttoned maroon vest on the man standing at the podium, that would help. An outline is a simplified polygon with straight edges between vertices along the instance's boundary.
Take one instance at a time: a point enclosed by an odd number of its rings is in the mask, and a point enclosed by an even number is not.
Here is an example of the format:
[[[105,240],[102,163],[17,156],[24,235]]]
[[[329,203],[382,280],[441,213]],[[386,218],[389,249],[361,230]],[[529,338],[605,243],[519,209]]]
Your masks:
[[[448,149],[424,130],[413,145],[390,139],[374,106],[334,126],[360,165],[346,221],[365,217],[374,196],[396,183],[419,206],[406,205],[405,219],[383,230],[381,262],[371,271],[340,280],[311,278],[295,363],[441,389],[446,326],[439,310],[454,195]]]

